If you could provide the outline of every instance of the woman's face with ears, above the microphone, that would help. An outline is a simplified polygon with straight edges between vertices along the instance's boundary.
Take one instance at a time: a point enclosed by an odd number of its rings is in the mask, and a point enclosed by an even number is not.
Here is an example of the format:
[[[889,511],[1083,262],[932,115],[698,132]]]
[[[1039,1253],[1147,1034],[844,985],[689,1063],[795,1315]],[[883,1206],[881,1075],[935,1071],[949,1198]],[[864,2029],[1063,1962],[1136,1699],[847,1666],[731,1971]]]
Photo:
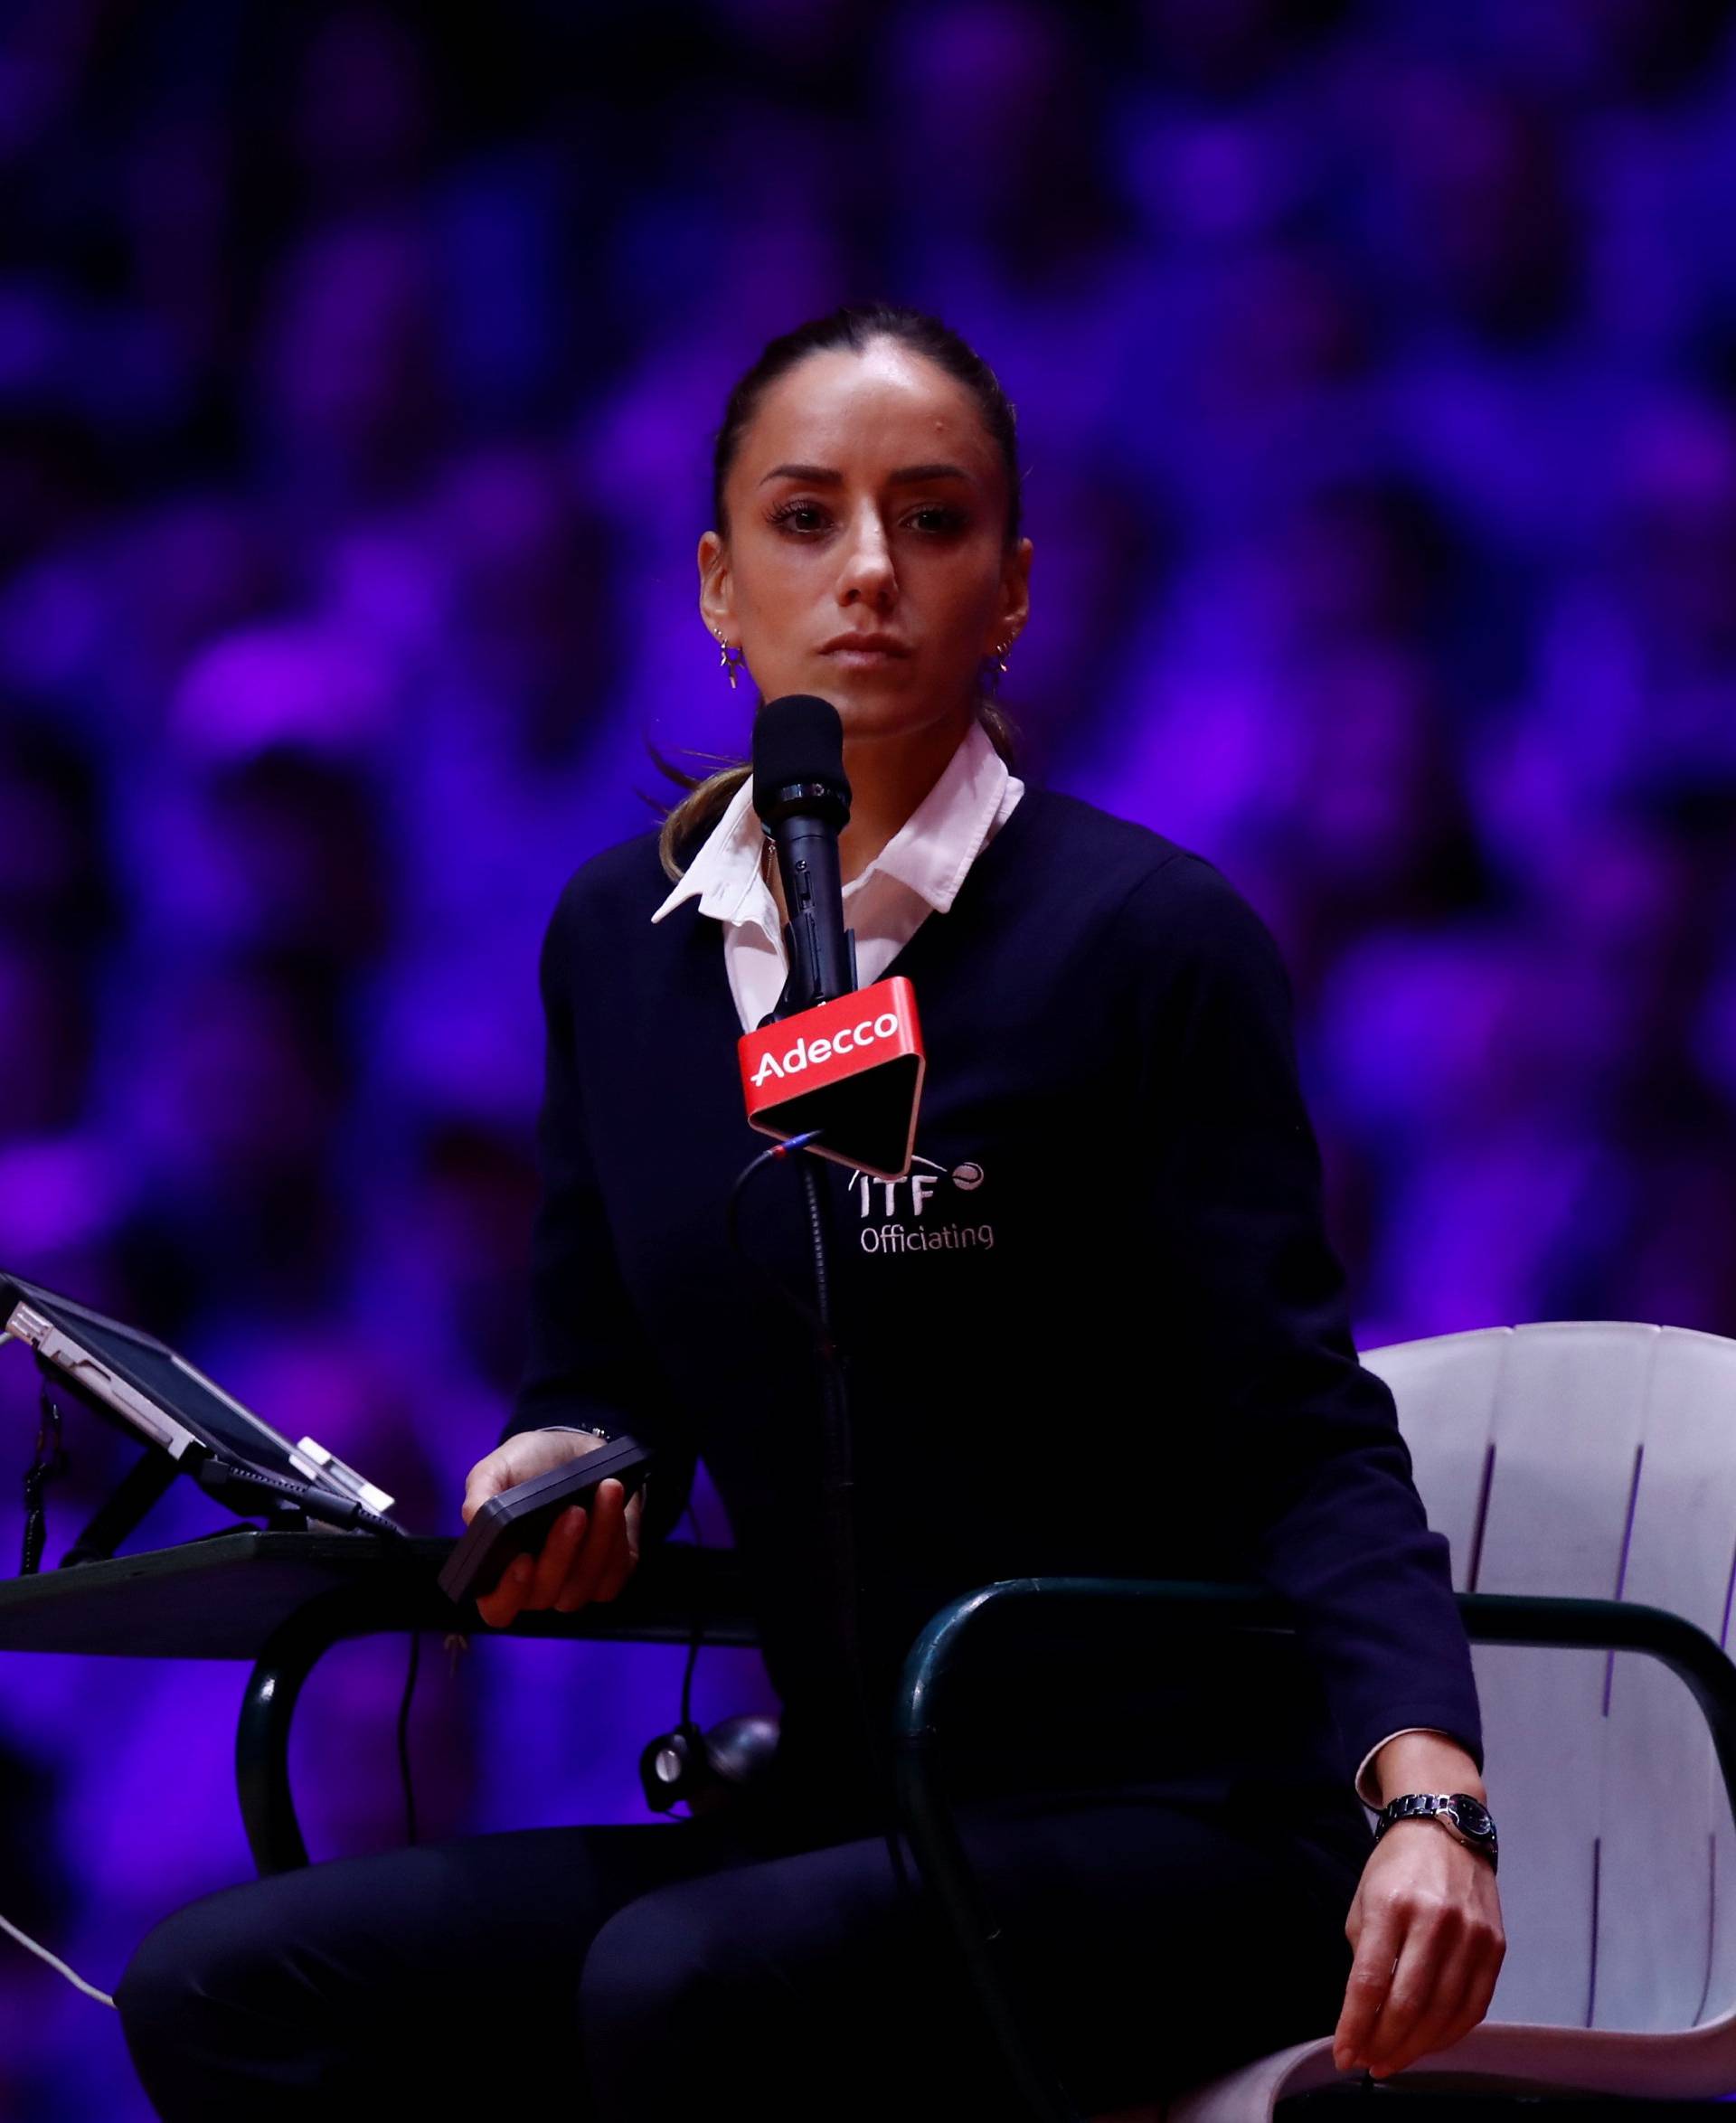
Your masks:
[[[1006,543],[1006,471],[964,384],[876,340],[809,355],[762,397],[698,546],[700,614],[764,694],[815,692],[851,741],[974,711],[1025,622],[1031,543]]]

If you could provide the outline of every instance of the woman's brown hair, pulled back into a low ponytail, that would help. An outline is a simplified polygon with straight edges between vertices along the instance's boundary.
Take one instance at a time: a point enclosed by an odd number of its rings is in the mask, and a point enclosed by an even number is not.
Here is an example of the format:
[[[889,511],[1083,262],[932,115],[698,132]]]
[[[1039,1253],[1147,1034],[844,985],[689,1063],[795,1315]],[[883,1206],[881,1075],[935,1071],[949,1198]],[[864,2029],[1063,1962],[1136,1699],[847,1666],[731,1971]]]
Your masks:
[[[724,425],[717,429],[717,442],[711,452],[711,512],[724,537],[730,535],[724,486],[741,452],[741,439],[753,425],[753,416],[770,384],[787,376],[809,355],[840,350],[860,355],[874,340],[896,340],[900,346],[908,346],[910,352],[923,355],[938,369],[961,382],[976,399],[983,427],[989,431],[1006,467],[1006,543],[1012,546],[1017,541],[1019,435],[1012,399],[1002,391],[1000,378],[989,363],[957,331],[942,325],[938,316],[927,316],[921,310],[902,310],[891,304],[832,310],[828,316],[815,316],[806,325],[781,333],[768,342],[753,367],[730,391],[724,405]],[[987,694],[980,694],[976,701],[976,720],[987,730],[995,752],[1012,764],[1014,730],[1006,709],[997,707]],[[692,851],[711,832],[734,792],[747,779],[749,766],[732,762],[713,775],[690,775],[662,756],[656,756],[656,760],[662,773],[688,792],[669,811],[658,836],[658,853],[662,856],[664,870],[671,877],[679,877]]]

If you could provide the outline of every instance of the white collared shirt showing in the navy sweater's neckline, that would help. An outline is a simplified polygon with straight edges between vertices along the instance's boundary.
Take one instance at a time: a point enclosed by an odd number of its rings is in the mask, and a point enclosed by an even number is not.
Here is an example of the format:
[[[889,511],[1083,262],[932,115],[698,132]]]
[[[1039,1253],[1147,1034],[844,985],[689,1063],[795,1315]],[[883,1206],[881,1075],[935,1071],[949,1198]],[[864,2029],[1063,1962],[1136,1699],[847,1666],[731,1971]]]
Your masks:
[[[855,930],[862,987],[881,979],[930,915],[949,911],[972,862],[1023,794],[1025,783],[1008,773],[987,730],[974,722],[927,796],[845,885],[845,926]],[[698,900],[702,915],[724,924],[730,996],[741,1030],[751,1032],[777,1006],[789,974],[751,781],[736,790],[652,919],[662,921],[688,900]]]

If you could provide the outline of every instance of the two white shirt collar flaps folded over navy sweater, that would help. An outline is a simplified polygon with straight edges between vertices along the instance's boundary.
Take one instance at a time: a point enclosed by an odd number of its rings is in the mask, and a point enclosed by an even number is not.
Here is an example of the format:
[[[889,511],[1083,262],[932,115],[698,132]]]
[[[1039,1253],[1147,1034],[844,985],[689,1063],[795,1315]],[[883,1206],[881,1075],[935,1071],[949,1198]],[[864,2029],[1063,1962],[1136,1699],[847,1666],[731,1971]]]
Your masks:
[[[845,885],[845,900],[862,894],[870,879],[891,877],[917,894],[934,913],[947,913],[972,862],[993,830],[1006,796],[1006,762],[987,730],[972,722],[940,779],[904,819],[868,868]],[[743,781],[705,845],[681,873],[675,890],[652,915],[662,921],[688,900],[713,921],[766,926],[772,898],[762,870],[764,832],[753,811],[753,783]],[[772,911],[770,934],[777,930]]]

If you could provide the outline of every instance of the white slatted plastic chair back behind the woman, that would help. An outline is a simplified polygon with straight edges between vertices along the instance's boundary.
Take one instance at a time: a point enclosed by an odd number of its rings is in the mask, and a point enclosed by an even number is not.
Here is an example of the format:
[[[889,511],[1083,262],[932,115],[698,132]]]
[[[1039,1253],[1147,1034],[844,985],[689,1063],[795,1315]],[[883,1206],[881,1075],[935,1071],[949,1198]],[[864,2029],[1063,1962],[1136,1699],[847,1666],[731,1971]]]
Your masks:
[[[1562,1323],[1362,1361],[1392,1386],[1458,1590],[1630,1599],[1725,1643],[1736,1342]],[[1477,1645],[1475,1664],[1509,1936],[1492,2021],[1683,2030],[1728,2013],[1736,1836],[1687,1690],[1640,1654]]]

